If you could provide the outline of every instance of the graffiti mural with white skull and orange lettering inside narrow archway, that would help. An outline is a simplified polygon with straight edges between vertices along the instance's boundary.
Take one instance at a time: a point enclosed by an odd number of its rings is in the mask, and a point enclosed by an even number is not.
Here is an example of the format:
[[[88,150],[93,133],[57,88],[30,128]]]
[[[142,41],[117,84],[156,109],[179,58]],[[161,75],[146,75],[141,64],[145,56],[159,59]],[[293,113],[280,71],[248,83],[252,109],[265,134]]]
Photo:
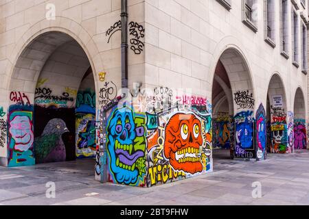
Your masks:
[[[286,112],[282,107],[271,105],[271,153],[286,153],[287,145]]]

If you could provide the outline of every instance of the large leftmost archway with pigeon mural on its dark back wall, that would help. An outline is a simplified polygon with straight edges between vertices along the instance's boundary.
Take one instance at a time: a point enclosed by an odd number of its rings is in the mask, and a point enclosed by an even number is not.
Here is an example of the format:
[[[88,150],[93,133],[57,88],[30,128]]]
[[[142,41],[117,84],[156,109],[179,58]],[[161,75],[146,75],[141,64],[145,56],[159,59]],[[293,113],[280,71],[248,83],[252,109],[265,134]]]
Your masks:
[[[95,157],[95,81],[76,40],[49,31],[19,56],[10,82],[8,166]]]

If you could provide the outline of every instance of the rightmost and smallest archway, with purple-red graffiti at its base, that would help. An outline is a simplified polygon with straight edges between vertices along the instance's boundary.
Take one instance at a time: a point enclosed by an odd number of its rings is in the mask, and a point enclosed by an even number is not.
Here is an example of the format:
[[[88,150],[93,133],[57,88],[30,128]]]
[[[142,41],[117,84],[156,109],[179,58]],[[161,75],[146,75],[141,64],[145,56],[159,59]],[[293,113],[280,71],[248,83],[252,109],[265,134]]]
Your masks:
[[[307,149],[306,105],[301,88],[297,88],[294,101],[294,149]]]

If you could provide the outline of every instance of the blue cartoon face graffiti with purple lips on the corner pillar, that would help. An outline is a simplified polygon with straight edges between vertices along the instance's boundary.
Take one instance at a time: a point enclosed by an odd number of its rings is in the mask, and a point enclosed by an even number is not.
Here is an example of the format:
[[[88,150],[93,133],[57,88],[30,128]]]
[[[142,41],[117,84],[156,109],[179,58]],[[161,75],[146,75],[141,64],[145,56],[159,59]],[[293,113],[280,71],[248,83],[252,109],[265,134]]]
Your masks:
[[[136,123],[139,118],[134,118],[128,107],[116,109],[109,121],[107,137],[110,172],[117,183],[135,184],[141,172],[139,163],[146,150],[144,126]]]

